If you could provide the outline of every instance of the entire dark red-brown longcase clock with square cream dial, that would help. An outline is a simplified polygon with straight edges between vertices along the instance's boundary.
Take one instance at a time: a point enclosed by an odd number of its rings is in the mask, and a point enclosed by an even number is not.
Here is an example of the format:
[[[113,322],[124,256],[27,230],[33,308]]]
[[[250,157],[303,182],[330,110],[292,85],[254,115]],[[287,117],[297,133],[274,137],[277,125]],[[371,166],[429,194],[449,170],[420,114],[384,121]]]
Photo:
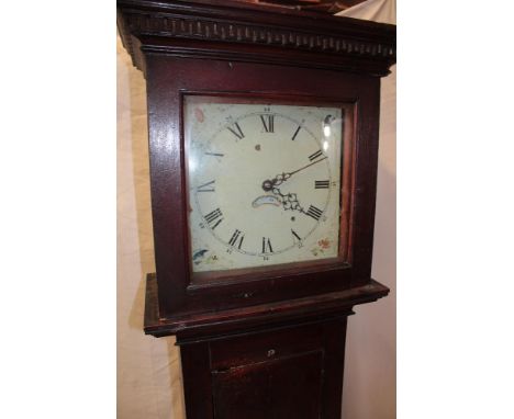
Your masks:
[[[118,0],[146,78],[156,273],[188,419],[340,417],[370,278],[395,26],[231,1]]]

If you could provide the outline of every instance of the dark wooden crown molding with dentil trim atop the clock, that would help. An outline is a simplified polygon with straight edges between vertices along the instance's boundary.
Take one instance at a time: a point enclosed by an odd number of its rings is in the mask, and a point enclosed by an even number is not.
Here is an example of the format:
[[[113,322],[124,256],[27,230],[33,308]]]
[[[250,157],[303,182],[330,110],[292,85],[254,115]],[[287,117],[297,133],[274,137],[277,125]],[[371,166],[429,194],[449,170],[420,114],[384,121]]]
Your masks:
[[[394,25],[241,2],[118,0],[118,26],[143,71],[167,54],[382,77],[396,58]]]

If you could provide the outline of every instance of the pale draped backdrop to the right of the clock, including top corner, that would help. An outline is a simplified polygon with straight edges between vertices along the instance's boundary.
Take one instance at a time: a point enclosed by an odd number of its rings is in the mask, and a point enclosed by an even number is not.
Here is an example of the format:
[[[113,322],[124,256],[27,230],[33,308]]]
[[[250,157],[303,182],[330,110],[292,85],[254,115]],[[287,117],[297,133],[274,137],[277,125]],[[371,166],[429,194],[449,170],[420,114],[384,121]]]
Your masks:
[[[368,0],[339,15],[395,24],[395,1]],[[371,275],[391,293],[348,318],[343,419],[396,417],[396,66],[381,88]]]

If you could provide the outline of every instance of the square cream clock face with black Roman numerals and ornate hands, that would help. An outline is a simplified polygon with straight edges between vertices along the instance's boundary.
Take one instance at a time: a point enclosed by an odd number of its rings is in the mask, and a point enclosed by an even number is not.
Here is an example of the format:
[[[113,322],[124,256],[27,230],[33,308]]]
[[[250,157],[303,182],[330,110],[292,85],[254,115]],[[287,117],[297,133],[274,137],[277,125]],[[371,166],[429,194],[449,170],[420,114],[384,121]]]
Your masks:
[[[192,272],[337,258],[343,110],[235,102],[185,101]]]

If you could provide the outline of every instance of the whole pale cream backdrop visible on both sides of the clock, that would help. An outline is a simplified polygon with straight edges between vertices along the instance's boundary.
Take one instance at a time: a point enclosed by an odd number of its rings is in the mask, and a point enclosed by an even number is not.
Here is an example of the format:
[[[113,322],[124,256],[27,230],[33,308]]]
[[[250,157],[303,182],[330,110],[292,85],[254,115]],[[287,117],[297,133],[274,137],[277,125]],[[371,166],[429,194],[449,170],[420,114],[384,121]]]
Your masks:
[[[342,14],[395,22],[394,0],[369,0]],[[344,419],[395,418],[395,68],[382,79],[372,274],[391,294],[358,306],[348,321]],[[143,333],[144,281],[154,272],[146,91],[118,38],[118,417],[183,419],[174,338]]]

